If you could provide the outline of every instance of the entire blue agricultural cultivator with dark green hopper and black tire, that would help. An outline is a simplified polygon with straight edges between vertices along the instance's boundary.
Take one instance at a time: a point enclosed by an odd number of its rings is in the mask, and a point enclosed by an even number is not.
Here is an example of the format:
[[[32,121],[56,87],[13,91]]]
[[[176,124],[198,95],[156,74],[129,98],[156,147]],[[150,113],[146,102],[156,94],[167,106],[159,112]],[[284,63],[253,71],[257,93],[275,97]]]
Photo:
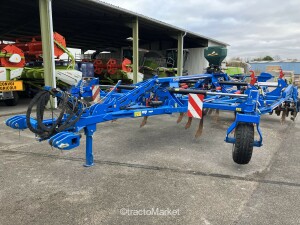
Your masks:
[[[31,101],[26,115],[11,117],[6,125],[14,129],[29,128],[40,141],[60,150],[70,150],[80,145],[81,131],[86,135],[86,166],[92,166],[93,133],[97,124],[120,118],[143,117],[141,126],[150,116],[180,113],[177,122],[187,113],[189,128],[193,117],[200,118],[196,137],[203,129],[203,118],[208,110],[232,111],[235,120],[227,129],[225,141],[232,143],[233,160],[247,164],[253,147],[262,146],[260,118],[275,111],[282,120],[299,112],[297,87],[287,85],[283,77],[276,83],[267,82],[269,74],[255,77],[250,83],[233,81],[220,69],[226,56],[224,48],[207,48],[205,56],[210,65],[205,74],[152,79],[134,85],[99,85],[99,80],[81,80],[69,92],[45,87]],[[50,97],[57,97],[61,107],[55,119],[44,119],[45,105]],[[36,117],[31,117],[36,105]],[[254,128],[258,139],[254,137]]]

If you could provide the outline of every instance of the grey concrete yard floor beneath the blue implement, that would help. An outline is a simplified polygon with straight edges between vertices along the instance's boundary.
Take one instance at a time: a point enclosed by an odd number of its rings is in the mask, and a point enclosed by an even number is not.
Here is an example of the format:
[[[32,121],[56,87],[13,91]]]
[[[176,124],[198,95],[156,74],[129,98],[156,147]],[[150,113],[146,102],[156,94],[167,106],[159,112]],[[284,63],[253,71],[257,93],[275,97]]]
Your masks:
[[[185,130],[177,115],[149,118],[141,129],[141,119],[103,123],[94,135],[96,164],[85,168],[84,138],[60,152],[5,126],[1,115],[27,104],[0,105],[1,225],[300,224],[299,121],[264,116],[264,146],[244,166],[223,141],[229,113],[218,122],[207,116],[198,140],[197,123]],[[165,213],[122,215],[152,209]]]

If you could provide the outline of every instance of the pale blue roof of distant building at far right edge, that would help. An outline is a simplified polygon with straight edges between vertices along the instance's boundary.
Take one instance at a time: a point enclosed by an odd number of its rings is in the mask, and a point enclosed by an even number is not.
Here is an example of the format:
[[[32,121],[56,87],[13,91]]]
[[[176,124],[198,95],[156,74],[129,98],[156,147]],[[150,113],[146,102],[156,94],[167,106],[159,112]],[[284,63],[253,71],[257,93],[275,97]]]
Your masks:
[[[295,74],[300,74],[300,62],[250,62],[251,69],[266,71],[267,66],[280,66],[282,70],[294,71]]]

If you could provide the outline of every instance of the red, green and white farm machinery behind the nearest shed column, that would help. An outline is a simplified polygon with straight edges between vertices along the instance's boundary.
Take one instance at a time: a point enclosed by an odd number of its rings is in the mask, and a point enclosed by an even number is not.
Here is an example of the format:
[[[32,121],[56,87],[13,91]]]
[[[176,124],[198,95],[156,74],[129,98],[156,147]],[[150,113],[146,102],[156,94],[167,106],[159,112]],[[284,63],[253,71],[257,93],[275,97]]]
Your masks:
[[[57,59],[66,53],[70,62],[56,61],[58,86],[76,85],[82,73],[74,69],[75,59],[66,48],[63,36],[54,33],[54,55]],[[18,104],[18,92],[37,92],[44,86],[42,42],[40,36],[18,38],[14,43],[0,44],[0,100],[6,105]]]

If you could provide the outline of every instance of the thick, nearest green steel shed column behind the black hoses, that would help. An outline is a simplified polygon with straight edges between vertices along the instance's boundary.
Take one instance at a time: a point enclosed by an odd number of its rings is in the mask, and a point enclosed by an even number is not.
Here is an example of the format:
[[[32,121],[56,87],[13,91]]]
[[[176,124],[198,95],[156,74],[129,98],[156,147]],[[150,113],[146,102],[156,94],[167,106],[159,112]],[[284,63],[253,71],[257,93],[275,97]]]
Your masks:
[[[54,40],[52,22],[52,0],[39,0],[40,25],[43,47],[44,80],[45,85],[56,87]],[[56,107],[56,101],[50,100],[51,108]]]

